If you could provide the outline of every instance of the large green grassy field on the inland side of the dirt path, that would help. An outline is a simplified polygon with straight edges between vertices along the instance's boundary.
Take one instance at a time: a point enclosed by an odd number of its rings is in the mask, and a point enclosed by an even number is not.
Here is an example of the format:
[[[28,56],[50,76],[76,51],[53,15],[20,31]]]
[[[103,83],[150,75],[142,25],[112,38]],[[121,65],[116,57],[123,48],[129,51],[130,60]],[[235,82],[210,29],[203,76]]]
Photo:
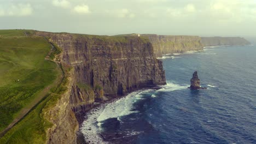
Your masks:
[[[44,59],[50,49],[42,37],[0,37],[0,131],[56,79],[56,64]]]

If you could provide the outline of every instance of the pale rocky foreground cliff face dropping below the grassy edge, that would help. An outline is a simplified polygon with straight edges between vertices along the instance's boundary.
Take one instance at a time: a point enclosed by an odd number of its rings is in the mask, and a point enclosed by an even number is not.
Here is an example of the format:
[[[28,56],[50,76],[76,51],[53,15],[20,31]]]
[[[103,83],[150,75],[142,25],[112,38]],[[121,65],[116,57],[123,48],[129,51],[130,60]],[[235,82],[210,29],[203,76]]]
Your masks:
[[[47,113],[43,113],[44,118],[53,123],[53,126],[46,131],[46,136],[48,137],[46,143],[76,143],[77,136],[75,132],[78,130],[79,125],[69,103],[73,76],[69,75],[67,78],[67,91],[61,94],[54,107],[51,107]]]

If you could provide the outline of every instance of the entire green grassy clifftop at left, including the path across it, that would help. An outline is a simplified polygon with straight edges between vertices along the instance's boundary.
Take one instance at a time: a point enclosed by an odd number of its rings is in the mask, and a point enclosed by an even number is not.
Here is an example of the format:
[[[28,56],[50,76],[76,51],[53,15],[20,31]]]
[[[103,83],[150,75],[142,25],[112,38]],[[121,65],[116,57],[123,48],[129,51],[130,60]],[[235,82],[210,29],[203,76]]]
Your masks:
[[[45,59],[52,48],[48,41],[31,34],[33,31],[0,30],[0,131],[33,107],[0,143],[44,143],[45,129],[51,125],[41,112],[54,99],[50,93],[61,70]]]

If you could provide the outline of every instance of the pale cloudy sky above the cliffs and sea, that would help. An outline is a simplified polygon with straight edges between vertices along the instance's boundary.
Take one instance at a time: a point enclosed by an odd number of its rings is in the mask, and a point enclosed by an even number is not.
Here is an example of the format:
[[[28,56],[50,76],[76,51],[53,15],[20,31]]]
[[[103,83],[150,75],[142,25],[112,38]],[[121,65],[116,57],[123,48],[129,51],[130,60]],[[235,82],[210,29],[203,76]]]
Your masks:
[[[256,35],[256,0],[0,0],[0,29]]]

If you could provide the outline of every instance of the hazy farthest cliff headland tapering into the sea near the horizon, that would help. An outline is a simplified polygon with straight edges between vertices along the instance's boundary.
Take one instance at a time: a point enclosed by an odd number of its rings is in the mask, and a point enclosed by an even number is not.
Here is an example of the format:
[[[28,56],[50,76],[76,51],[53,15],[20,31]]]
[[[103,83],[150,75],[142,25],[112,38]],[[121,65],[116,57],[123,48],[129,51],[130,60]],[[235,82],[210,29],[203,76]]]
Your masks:
[[[241,37],[202,37],[203,46],[221,46],[221,45],[249,45],[251,44],[245,38]]]

